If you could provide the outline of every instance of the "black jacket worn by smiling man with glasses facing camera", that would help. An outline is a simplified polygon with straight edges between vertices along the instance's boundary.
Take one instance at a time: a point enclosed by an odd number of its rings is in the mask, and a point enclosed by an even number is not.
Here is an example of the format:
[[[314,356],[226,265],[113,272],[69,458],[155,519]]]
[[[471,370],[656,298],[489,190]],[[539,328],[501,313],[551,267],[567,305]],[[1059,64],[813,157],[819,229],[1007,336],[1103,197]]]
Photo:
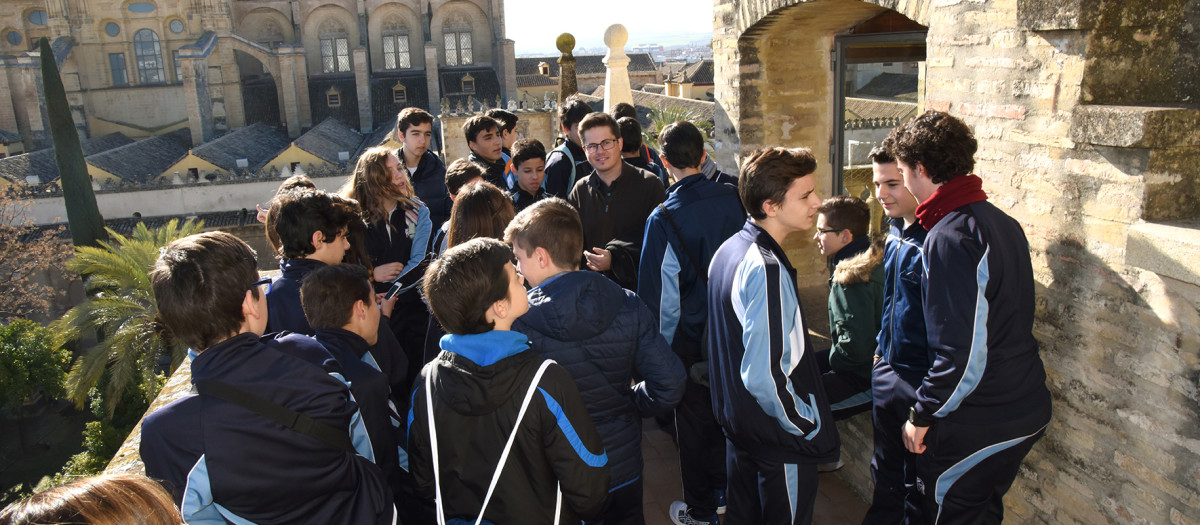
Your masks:
[[[583,222],[583,249],[612,252],[612,268],[605,276],[629,290],[637,290],[637,261],[642,253],[646,219],[666,199],[662,181],[654,174],[622,162],[622,173],[605,186],[595,171],[575,183],[566,198]],[[582,254],[581,254],[582,255]],[[587,266],[583,266],[587,267]]]

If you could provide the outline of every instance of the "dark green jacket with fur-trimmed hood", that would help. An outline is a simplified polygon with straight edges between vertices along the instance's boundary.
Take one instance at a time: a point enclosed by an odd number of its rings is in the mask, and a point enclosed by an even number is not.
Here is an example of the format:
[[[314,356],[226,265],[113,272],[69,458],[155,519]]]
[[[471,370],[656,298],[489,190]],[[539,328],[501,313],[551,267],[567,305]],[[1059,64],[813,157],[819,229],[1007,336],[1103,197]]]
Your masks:
[[[871,376],[883,312],[883,243],[838,262],[829,279],[829,368]]]

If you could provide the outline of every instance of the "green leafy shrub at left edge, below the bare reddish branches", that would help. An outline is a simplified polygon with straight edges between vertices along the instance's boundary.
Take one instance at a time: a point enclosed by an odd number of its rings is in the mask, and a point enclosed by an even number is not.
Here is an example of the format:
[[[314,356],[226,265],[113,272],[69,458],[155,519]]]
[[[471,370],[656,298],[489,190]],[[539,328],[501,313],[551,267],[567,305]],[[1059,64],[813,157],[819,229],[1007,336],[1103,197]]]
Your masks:
[[[37,388],[61,397],[70,364],[71,354],[42,325],[18,319],[0,326],[0,405],[18,410]]]

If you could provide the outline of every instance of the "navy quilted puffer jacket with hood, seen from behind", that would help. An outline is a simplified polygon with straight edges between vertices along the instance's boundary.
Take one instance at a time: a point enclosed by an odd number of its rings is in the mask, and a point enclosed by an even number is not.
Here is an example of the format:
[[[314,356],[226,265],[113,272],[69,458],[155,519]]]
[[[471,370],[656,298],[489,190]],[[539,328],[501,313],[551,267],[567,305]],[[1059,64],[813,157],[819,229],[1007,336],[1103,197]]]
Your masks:
[[[512,330],[571,374],[608,451],[611,488],[637,479],[642,417],[679,404],[686,379],[646,304],[599,273],[564,272],[529,290]],[[635,376],[644,380],[630,387]]]

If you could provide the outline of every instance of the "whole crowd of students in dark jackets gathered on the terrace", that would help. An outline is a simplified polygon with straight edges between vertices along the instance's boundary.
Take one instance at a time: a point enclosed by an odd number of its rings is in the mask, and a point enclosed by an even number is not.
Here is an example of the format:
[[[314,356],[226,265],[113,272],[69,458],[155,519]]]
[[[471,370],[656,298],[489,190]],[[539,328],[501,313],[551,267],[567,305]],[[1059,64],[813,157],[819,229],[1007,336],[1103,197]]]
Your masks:
[[[971,129],[928,111],[871,152],[892,224],[871,243],[810,150],[733,176],[689,122],[647,147],[631,110],[566,101],[548,153],[475,116],[446,167],[404,109],[403,146],[340,192],[283,183],[262,217],[278,277],[230,234],[167,246],[157,320],[194,388],[145,417],[140,454],[182,519],[642,524],[660,417],[674,523],[805,524],[835,418],[872,408],[864,523],[1000,523],[1050,396],[1027,241],[971,175]],[[828,352],[782,248],[814,225]]]

